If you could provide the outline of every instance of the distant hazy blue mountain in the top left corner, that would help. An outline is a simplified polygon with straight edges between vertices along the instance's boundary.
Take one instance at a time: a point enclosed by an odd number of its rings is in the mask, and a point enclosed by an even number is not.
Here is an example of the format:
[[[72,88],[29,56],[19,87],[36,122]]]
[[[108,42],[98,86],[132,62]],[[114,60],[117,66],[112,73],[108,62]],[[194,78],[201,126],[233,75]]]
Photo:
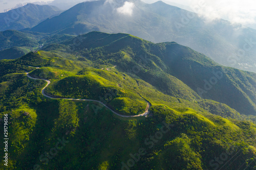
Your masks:
[[[0,13],[0,31],[32,28],[61,11],[54,6],[27,4],[24,7]]]

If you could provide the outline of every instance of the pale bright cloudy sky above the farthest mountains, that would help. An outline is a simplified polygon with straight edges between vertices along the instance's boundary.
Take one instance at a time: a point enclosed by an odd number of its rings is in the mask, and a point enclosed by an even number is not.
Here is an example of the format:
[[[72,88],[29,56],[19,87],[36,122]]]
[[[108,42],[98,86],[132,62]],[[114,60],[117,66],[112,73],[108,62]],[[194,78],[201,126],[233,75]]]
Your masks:
[[[26,2],[50,2],[53,0],[0,0],[0,12],[5,9],[12,8],[16,4]],[[66,0],[67,1],[67,0]],[[69,1],[69,0],[68,0]],[[70,0],[71,2],[74,0]],[[85,0],[86,1],[86,0]],[[127,0],[129,1],[129,0]],[[142,0],[146,3],[154,3],[158,0]],[[223,18],[232,23],[241,23],[245,26],[251,26],[256,29],[256,1],[253,0],[162,0],[186,6],[185,9],[201,14],[209,20]],[[127,3],[126,7],[132,8],[131,4]],[[182,7],[182,6],[180,6]],[[120,9],[121,11],[122,9]],[[129,14],[129,11],[124,11]]]

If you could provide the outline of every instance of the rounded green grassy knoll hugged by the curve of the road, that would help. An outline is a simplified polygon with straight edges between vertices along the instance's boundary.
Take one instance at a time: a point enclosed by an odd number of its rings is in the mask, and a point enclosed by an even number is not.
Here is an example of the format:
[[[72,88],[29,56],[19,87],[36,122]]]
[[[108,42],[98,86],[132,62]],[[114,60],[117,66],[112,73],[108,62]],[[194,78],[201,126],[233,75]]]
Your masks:
[[[46,92],[62,98],[90,99],[108,103],[122,114],[143,113],[146,102],[137,93],[122,89],[98,75],[70,76],[50,84]]]

